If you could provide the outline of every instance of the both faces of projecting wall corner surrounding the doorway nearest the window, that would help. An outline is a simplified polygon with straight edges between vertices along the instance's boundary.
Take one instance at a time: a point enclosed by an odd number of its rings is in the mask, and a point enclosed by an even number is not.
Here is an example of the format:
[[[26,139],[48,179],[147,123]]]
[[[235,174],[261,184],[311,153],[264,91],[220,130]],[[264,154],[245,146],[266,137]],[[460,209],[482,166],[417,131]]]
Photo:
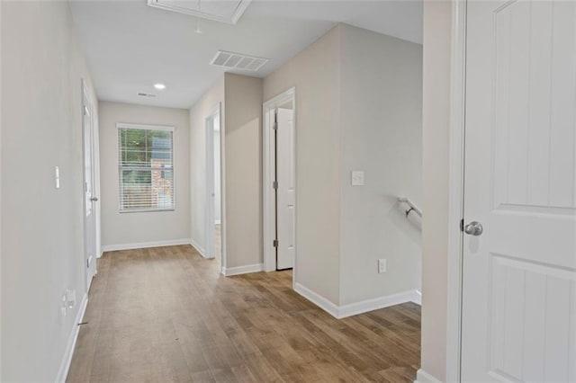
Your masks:
[[[206,125],[220,102],[225,268],[262,263],[262,79],[229,73],[190,110],[192,243],[206,249]]]

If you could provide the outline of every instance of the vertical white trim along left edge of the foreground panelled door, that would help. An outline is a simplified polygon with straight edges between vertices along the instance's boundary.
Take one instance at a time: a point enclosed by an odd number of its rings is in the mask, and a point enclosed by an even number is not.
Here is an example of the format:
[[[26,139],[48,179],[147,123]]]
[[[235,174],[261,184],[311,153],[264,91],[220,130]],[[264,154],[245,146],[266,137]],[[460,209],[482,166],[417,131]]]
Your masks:
[[[446,381],[461,379],[463,233],[460,220],[464,218],[466,4],[467,0],[452,0]]]

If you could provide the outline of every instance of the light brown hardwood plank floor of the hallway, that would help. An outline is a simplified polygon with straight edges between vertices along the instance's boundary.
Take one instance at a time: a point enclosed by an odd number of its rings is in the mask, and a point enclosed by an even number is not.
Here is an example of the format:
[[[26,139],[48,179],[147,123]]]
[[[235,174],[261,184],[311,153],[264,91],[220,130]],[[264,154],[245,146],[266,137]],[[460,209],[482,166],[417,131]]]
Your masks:
[[[224,278],[191,246],[98,261],[68,382],[409,382],[420,309],[337,320],[291,272]]]

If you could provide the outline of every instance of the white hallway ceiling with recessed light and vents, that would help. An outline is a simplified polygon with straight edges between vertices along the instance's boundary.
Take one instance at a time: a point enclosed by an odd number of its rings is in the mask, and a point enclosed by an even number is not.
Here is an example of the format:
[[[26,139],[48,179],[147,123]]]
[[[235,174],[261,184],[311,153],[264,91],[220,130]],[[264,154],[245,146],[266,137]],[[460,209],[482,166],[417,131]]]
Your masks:
[[[73,0],[70,7],[100,100],[174,108],[191,107],[224,72],[209,65],[219,49],[270,58],[246,73],[264,77],[337,22],[422,41],[416,0],[253,0],[236,25],[202,19],[202,34],[194,33],[195,17],[147,0]]]

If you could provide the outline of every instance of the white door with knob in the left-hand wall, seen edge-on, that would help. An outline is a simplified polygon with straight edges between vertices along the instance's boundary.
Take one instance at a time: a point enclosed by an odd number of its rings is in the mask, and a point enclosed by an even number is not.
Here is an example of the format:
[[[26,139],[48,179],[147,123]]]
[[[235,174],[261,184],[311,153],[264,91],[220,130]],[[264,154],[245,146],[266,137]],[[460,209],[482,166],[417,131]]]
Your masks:
[[[84,246],[86,291],[96,273],[96,221],[94,203],[94,116],[90,99],[83,88],[83,141],[84,141]]]

